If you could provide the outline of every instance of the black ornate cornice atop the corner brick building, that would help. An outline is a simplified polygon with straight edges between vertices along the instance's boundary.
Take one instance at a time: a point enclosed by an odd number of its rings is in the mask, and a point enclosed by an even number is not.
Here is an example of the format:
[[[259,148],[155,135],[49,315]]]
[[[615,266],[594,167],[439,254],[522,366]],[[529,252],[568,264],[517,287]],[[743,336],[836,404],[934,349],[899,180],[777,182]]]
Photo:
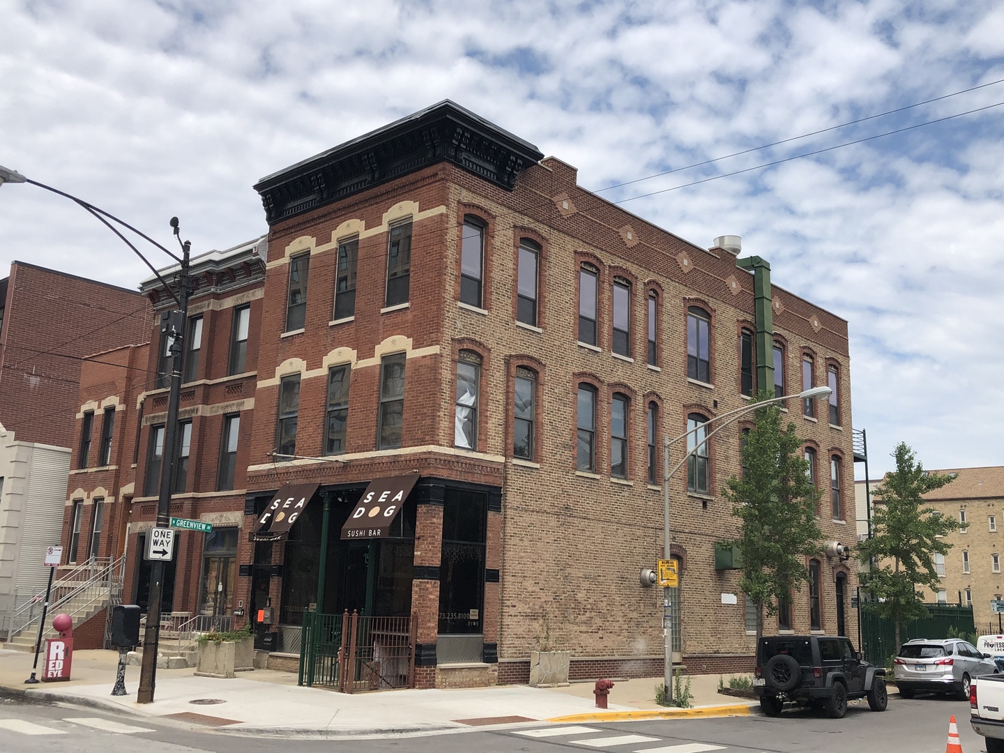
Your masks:
[[[449,99],[274,173],[255,185],[269,225],[450,162],[512,191],[543,158],[532,144]]]

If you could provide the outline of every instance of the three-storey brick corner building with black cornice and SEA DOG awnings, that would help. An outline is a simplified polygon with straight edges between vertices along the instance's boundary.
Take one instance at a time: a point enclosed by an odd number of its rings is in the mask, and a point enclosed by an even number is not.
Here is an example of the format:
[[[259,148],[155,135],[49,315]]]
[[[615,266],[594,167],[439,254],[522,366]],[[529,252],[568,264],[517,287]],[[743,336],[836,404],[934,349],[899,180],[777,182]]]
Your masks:
[[[413,617],[420,687],[526,682],[545,633],[572,678],[660,675],[661,593],[639,584],[662,554],[659,438],[744,405],[758,345],[778,395],[834,389],[786,410],[825,538],[852,540],[847,324],[774,288],[757,341],[731,244],[631,215],[448,101],[256,189],[268,261],[236,596],[271,607],[260,645],[288,648],[304,608],[357,609]],[[674,648],[692,673],[752,663],[739,574],[715,558],[743,428],[671,482]],[[380,511],[370,483],[412,491]],[[288,528],[266,510],[286,490],[305,501]],[[389,525],[360,534],[360,505]],[[813,584],[768,632],[855,635],[852,564],[806,565]]]

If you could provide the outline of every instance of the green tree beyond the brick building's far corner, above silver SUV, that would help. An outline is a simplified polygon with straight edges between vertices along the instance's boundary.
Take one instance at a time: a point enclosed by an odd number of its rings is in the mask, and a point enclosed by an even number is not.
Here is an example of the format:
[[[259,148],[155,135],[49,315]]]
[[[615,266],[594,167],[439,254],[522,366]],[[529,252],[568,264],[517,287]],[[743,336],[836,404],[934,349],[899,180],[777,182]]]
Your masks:
[[[896,470],[887,473],[874,490],[882,504],[871,516],[871,538],[857,545],[857,553],[862,562],[871,563],[860,575],[872,599],[868,608],[894,620],[899,649],[903,620],[928,613],[917,586],[938,590],[934,556],[952,548],[943,536],[956,530],[959,522],[923,506],[924,495],[950,483],[955,474],[925,471],[905,442],[897,445],[893,457]]]

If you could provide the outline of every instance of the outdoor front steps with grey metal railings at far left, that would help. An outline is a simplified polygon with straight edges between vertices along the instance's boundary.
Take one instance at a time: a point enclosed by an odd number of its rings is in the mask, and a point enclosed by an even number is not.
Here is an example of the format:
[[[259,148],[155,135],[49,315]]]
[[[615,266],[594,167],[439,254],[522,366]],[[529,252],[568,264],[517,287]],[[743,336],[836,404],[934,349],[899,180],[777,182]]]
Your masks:
[[[101,609],[111,605],[113,598],[120,598],[126,557],[115,560],[89,559],[62,572],[52,583],[46,621],[56,614],[69,614],[73,628],[77,628]],[[45,591],[36,593],[21,604],[7,620],[6,649],[34,651],[38,640],[38,620],[42,616]],[[3,635],[3,634],[0,634]],[[54,638],[56,632],[47,624],[42,640]]]

